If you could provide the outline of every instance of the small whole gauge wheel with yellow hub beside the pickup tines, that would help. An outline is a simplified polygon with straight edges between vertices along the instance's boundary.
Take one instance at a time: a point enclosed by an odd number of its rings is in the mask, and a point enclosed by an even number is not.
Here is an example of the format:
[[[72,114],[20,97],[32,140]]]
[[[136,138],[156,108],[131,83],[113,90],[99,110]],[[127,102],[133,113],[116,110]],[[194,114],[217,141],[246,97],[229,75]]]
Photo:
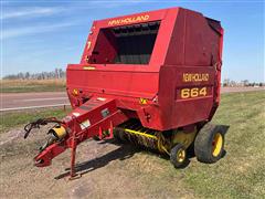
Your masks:
[[[181,155],[180,155],[181,153]],[[186,148],[182,144],[177,144],[170,151],[170,161],[174,168],[184,168],[189,165]]]

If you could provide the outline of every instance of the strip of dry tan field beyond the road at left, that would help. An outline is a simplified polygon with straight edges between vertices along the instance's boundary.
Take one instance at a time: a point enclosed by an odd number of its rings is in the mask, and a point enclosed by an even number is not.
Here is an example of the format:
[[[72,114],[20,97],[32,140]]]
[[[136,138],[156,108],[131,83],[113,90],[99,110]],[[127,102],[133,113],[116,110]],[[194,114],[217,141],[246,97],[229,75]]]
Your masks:
[[[65,91],[65,80],[1,80],[0,93]]]

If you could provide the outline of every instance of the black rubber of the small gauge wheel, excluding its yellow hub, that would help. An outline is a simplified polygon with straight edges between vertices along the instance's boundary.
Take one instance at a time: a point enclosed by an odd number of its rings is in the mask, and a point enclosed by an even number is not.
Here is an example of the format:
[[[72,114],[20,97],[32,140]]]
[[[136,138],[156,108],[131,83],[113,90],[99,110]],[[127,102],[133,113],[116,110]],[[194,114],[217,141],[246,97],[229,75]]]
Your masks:
[[[180,163],[180,161],[177,160],[177,154],[178,154],[179,149],[186,150],[184,146],[182,144],[177,144],[173,148],[171,148],[171,150],[170,150],[170,161],[174,166],[174,168],[184,168],[190,163],[189,159],[188,159],[188,156],[187,156],[188,154],[186,151],[186,158],[184,158],[183,161]]]

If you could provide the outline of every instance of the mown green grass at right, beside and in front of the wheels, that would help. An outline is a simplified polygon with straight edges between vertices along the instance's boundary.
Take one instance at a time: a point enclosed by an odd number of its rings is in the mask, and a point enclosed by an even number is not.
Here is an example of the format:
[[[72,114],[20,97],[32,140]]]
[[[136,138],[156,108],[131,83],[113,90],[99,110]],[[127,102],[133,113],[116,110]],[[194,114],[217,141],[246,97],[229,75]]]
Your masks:
[[[223,94],[221,102],[212,123],[230,125],[225,157],[213,165],[193,158],[183,170],[170,167],[168,160],[156,159],[153,164],[162,171],[152,178],[140,174],[147,182],[152,181],[153,191],[174,189],[173,185],[180,181],[183,190],[198,198],[264,198],[265,92]]]

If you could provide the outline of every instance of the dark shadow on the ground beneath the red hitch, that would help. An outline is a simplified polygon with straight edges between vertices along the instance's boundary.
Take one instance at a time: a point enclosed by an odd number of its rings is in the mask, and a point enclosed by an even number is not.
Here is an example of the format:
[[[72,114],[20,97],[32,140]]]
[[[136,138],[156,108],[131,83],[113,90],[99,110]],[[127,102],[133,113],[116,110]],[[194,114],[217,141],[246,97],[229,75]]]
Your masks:
[[[129,145],[129,144],[127,144],[127,145],[120,144],[115,139],[100,142],[98,144],[102,145],[102,144],[106,144],[106,143],[117,145],[117,146],[119,146],[119,148],[117,148],[106,155],[103,155],[100,157],[76,164],[75,172],[83,176],[87,172],[91,172],[98,168],[105,167],[113,160],[117,160],[117,159],[125,160],[125,159],[131,158],[136,153],[142,151],[142,149],[140,149],[138,146]],[[65,172],[56,176],[54,179],[59,180],[59,179],[65,178],[67,176],[70,176],[70,168],[66,168]]]

